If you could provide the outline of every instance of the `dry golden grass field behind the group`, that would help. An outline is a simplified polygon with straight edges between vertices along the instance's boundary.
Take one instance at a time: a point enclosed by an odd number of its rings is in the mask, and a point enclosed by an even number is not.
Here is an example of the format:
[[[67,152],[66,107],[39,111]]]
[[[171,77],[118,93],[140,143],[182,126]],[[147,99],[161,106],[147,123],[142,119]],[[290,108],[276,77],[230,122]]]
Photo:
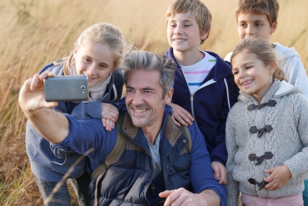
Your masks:
[[[97,22],[121,28],[142,50],[169,48],[164,14],[173,0],[0,1],[0,205],[43,205],[25,149],[26,118],[18,104],[23,82],[43,65],[68,55],[77,36]],[[213,15],[201,49],[224,57],[237,44],[236,0],[203,0]],[[280,0],[271,41],[294,46],[308,69],[308,1]],[[74,197],[72,205],[77,205]]]

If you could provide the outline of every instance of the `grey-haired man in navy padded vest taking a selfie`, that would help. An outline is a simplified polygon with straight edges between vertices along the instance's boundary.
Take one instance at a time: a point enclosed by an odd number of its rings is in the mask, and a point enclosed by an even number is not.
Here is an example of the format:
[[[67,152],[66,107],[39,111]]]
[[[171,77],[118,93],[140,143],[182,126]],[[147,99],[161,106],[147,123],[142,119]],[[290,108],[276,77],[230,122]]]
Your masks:
[[[55,147],[89,156],[92,173],[111,152],[119,136],[125,149],[119,161],[90,185],[92,204],[223,206],[226,190],[218,184],[204,137],[195,124],[188,138],[171,119],[174,64],[151,52],[132,51],[124,60],[126,97],[120,101],[118,124],[108,132],[99,119],[76,120],[43,99],[47,74],[26,80],[19,103],[35,130]],[[189,150],[189,149],[188,149]]]

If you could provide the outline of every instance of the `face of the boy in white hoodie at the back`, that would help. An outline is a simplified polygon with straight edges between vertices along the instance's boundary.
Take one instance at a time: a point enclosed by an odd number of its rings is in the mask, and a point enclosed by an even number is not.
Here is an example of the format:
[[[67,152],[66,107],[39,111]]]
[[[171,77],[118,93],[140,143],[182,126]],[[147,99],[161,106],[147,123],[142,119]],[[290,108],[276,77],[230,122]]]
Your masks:
[[[277,29],[277,20],[271,25],[266,15],[240,13],[237,18],[237,30],[241,39],[260,37],[269,41]]]

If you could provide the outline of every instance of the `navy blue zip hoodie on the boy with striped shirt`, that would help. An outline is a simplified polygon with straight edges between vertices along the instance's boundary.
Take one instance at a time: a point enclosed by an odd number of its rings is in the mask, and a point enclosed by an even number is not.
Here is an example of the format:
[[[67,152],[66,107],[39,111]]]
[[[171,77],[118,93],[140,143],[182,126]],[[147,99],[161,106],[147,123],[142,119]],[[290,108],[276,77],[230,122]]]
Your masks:
[[[165,55],[176,64],[172,103],[182,106],[192,114],[205,138],[212,161],[225,165],[225,124],[230,108],[237,102],[239,89],[234,83],[231,66],[217,54],[207,53],[217,59],[216,65],[197,91],[190,94],[184,72],[173,55],[173,48],[166,51]]]

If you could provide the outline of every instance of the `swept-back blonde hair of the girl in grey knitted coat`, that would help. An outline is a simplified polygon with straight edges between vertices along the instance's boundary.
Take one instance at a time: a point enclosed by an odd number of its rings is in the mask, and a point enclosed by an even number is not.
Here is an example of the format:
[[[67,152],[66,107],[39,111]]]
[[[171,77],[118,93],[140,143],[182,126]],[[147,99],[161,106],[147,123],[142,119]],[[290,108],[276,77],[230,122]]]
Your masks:
[[[282,65],[281,62],[283,62],[282,56],[280,55],[280,57],[278,52],[275,51],[274,44],[269,43],[262,38],[245,38],[241,40],[233,50],[230,62],[232,62],[233,57],[240,52],[257,55],[258,59],[261,60],[266,66],[270,65],[274,61],[276,63],[276,71],[273,74],[273,80],[278,79],[280,81],[287,81],[284,70],[280,66]]]

